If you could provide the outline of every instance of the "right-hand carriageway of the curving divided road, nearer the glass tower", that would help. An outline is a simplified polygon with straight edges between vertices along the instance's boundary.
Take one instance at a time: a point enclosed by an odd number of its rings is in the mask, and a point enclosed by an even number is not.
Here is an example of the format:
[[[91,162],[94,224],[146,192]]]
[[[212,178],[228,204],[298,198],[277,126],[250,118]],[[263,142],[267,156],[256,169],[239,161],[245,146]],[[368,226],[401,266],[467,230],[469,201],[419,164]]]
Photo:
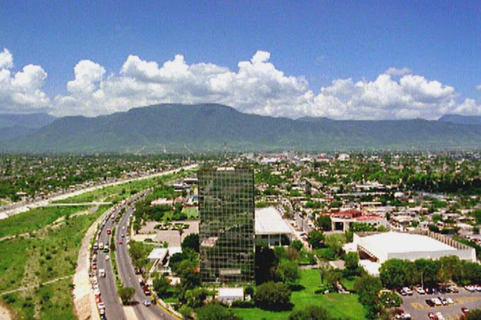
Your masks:
[[[133,209],[128,207],[125,214],[123,214],[121,220],[116,228],[116,259],[118,265],[118,273],[120,274],[123,284],[127,287],[135,288],[135,295],[132,299],[132,305],[135,315],[138,319],[176,319],[168,312],[164,311],[157,304],[151,304],[150,307],[145,307],[142,304],[143,300],[150,301],[150,296],[143,293],[142,288],[138,282],[138,276],[135,274],[133,268],[132,259],[128,254],[128,221]],[[122,234],[124,237],[122,237]],[[122,241],[123,244],[119,245],[118,242]]]

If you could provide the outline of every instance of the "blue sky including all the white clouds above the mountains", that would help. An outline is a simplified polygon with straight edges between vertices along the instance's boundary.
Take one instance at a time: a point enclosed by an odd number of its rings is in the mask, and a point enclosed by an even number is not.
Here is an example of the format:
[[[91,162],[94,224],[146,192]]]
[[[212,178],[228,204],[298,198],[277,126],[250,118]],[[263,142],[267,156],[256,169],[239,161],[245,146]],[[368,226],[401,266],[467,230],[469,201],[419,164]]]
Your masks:
[[[3,1],[0,113],[481,115],[480,1]]]

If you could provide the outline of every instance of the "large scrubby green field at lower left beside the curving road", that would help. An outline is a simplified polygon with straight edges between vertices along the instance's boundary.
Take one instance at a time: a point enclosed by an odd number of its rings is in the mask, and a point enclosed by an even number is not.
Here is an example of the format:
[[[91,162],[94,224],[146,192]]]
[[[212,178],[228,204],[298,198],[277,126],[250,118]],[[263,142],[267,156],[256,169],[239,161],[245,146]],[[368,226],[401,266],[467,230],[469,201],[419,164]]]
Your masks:
[[[25,319],[75,319],[71,278],[41,285],[75,273],[78,250],[87,228],[104,211],[75,216],[59,226],[37,230],[32,238],[13,238],[1,242],[0,293],[25,286],[25,291],[3,295]],[[35,316],[34,316],[35,315]]]

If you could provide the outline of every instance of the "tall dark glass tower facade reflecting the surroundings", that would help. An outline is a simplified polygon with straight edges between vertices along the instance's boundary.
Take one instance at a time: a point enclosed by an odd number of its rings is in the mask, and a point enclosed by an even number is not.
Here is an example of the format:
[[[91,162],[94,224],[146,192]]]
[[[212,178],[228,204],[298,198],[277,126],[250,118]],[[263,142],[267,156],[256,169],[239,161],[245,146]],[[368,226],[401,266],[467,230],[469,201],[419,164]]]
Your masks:
[[[254,281],[254,171],[207,168],[197,177],[202,281]]]

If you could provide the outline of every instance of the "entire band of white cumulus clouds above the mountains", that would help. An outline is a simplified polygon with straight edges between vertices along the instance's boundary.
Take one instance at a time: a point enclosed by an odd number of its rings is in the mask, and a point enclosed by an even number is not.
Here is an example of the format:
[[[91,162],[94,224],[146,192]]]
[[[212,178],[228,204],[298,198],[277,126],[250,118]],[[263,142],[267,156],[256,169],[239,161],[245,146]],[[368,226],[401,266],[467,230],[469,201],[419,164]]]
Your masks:
[[[408,68],[389,68],[375,80],[336,79],[317,92],[303,76],[286,75],[257,51],[236,70],[213,63],[192,63],[184,56],[158,63],[130,55],[118,72],[82,60],[74,67],[68,93],[49,100],[42,91],[47,73],[28,65],[11,73],[13,58],[0,54],[0,111],[50,107],[56,115],[126,111],[135,106],[219,103],[269,116],[327,116],[337,119],[439,118],[445,113],[481,114],[473,99],[458,102],[456,90]]]

